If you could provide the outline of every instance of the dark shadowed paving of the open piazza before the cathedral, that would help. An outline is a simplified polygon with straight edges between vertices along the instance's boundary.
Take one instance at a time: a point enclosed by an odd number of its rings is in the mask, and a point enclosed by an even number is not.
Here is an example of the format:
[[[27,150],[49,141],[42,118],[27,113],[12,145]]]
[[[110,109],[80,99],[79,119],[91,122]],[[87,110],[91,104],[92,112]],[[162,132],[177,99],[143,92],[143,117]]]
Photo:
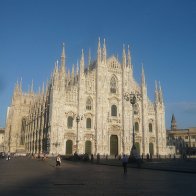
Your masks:
[[[54,159],[0,159],[0,195],[196,195],[196,175]]]

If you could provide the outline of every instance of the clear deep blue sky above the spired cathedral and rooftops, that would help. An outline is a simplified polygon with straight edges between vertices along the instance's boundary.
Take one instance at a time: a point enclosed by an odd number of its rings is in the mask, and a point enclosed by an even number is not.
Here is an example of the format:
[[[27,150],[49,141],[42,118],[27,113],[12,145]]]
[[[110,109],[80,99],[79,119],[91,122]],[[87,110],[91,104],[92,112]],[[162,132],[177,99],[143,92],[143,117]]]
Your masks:
[[[151,101],[160,81],[166,128],[173,113],[178,128],[196,127],[195,0],[0,0],[0,127],[17,80],[38,91],[63,43],[68,69],[82,49],[86,63],[89,49],[96,58],[99,37],[119,60],[130,45],[134,77],[141,83],[143,64]]]

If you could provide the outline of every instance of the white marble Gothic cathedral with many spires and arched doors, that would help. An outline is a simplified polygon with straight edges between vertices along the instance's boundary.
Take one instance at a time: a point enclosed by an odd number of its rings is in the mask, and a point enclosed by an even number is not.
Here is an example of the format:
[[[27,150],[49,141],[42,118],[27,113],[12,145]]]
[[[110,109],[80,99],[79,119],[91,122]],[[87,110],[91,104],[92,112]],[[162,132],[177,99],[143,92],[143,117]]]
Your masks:
[[[140,95],[135,103],[125,95]],[[160,84],[155,100],[147,96],[142,67],[141,82],[133,76],[129,47],[122,61],[107,56],[105,39],[98,40],[97,57],[67,69],[63,45],[50,80],[38,92],[33,83],[23,92],[17,82],[7,111],[6,151],[61,154],[166,154],[165,107]]]

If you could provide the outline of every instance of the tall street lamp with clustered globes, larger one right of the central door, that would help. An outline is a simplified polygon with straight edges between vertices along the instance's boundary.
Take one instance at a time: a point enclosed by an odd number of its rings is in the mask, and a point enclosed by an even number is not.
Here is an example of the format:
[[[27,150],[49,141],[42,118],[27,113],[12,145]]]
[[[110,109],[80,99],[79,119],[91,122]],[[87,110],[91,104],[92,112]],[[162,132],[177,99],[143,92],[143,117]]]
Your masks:
[[[137,92],[131,92],[131,93],[125,93],[124,99],[126,101],[129,101],[132,105],[132,123],[133,123],[133,147],[135,146],[135,126],[134,126],[134,105],[137,103],[138,100],[141,100],[142,96],[141,94]]]

